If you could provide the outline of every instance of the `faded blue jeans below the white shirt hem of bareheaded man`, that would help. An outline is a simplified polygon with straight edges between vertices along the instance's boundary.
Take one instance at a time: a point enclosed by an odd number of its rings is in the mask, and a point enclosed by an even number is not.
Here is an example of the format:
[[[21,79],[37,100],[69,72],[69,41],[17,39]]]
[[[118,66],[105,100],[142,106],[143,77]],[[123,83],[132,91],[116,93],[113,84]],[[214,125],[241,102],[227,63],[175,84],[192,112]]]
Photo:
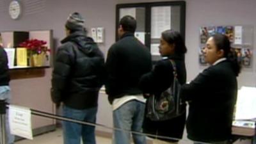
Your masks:
[[[127,131],[142,132],[145,104],[131,100],[113,111],[114,127]],[[131,144],[131,134],[124,131],[114,131],[114,144]],[[132,134],[134,144],[146,144],[146,137]]]

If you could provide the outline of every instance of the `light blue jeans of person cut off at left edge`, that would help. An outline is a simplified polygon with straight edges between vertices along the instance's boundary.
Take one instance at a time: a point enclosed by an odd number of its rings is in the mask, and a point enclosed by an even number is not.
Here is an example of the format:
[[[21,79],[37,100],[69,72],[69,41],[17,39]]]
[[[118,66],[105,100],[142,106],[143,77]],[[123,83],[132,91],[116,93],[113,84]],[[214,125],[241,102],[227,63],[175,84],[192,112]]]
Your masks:
[[[0,86],[0,99],[6,100],[6,102],[10,103],[11,100],[11,92],[10,92],[10,86]],[[13,144],[15,140],[15,136],[13,136],[10,133],[10,125],[8,122],[8,110],[6,111],[6,138],[8,144]],[[2,129],[0,125],[0,129]],[[1,132],[0,132],[1,133]],[[0,134],[1,136],[1,134]]]

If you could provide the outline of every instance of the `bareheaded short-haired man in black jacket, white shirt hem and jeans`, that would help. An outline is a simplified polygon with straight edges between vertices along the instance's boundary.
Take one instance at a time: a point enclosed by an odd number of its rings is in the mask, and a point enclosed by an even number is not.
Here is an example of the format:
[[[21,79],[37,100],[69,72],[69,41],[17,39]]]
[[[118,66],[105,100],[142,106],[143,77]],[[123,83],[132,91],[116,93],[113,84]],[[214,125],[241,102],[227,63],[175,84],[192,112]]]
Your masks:
[[[113,106],[115,127],[142,132],[145,99],[138,87],[140,77],[151,70],[151,55],[145,45],[134,37],[136,20],[122,17],[119,22],[120,40],[108,51],[106,93]],[[145,144],[145,136],[132,134],[135,144]],[[130,144],[129,132],[114,131],[115,144]]]

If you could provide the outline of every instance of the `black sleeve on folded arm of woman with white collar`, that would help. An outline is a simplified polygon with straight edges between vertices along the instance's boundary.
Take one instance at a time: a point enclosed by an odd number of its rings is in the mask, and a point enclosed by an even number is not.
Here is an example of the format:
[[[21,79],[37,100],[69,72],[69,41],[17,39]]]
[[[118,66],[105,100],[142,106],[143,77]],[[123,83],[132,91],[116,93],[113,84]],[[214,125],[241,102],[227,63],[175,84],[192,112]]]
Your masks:
[[[182,85],[180,89],[180,97],[186,101],[200,99],[200,93],[207,93],[207,88],[209,87],[209,84],[212,83],[212,77],[214,77],[212,68],[205,69],[189,84]]]

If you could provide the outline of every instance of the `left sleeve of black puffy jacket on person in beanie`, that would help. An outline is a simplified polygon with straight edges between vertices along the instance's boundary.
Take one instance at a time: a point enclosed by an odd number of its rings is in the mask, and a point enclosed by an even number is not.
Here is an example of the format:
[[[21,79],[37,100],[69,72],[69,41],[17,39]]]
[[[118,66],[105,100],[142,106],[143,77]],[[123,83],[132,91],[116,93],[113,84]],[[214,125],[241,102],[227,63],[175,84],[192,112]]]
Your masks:
[[[56,104],[61,102],[61,97],[67,88],[67,79],[70,75],[72,61],[74,54],[66,49],[59,48],[56,54],[54,69],[52,72],[52,88],[51,97],[52,101]]]

